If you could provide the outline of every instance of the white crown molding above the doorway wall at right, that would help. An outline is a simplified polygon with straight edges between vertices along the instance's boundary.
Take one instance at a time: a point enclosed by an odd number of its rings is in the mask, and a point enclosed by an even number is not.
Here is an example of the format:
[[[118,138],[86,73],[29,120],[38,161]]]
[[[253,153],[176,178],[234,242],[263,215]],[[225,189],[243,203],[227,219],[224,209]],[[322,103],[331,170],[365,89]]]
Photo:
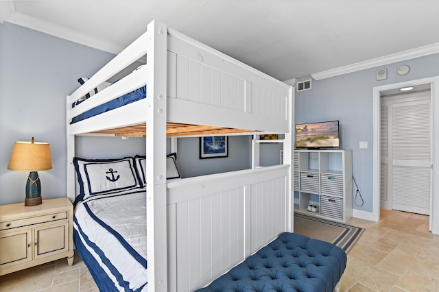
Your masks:
[[[436,42],[431,45],[426,45],[423,47],[418,47],[415,49],[410,49],[407,51],[401,51],[399,53],[393,53],[388,56],[383,56],[383,57],[367,60],[364,62],[358,62],[347,66],[342,66],[335,69],[322,71],[319,73],[313,73],[311,74],[311,77],[313,77],[315,80],[322,80],[324,78],[335,77],[338,75],[353,73],[356,71],[370,69],[377,66],[383,66],[395,62],[401,62],[404,60],[410,60],[414,58],[428,56],[434,53],[439,53],[439,42]]]

